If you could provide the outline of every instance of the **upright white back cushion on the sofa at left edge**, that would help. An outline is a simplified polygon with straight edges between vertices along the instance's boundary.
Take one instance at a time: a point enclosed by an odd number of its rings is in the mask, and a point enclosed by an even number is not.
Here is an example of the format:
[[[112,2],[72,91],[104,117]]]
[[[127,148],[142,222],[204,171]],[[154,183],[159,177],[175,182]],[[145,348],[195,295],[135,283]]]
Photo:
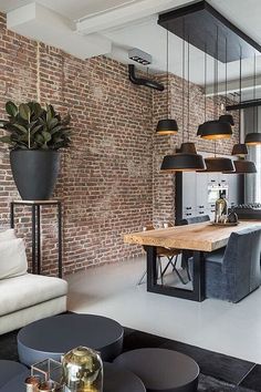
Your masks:
[[[21,238],[0,241],[0,279],[24,275],[28,260]]]

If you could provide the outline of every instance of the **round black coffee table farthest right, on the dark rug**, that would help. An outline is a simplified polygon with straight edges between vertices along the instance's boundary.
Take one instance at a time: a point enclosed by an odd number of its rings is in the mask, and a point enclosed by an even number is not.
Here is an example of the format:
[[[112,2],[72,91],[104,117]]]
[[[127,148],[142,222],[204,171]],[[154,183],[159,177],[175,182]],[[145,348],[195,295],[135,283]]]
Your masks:
[[[165,349],[128,351],[114,363],[136,374],[147,392],[196,392],[199,367],[188,355]]]

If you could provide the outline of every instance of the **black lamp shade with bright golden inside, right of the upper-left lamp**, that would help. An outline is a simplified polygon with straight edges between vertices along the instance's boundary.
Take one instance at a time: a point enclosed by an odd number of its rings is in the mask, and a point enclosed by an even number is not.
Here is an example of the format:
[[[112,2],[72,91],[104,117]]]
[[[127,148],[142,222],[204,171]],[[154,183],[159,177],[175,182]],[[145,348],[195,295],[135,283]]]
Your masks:
[[[222,123],[218,120],[206,121],[203,124],[200,124],[197,133],[197,136],[210,141],[230,138],[231,135],[231,125],[229,123]]]

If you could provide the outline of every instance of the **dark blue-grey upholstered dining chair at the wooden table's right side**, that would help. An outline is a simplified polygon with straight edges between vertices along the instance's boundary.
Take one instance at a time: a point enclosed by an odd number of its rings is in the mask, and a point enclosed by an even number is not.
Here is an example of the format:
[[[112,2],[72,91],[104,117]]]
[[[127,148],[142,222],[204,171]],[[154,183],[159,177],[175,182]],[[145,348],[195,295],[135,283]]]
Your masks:
[[[261,282],[260,250],[261,228],[253,227],[232,233],[227,247],[206,254],[206,297],[238,302],[255,290]]]

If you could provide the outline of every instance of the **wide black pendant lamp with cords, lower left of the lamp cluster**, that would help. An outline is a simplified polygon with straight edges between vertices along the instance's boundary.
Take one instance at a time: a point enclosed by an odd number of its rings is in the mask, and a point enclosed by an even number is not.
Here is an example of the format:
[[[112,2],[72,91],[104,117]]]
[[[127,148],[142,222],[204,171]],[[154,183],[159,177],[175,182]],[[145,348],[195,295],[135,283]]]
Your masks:
[[[185,21],[184,21],[185,30]],[[185,31],[184,31],[185,32]],[[188,38],[188,140],[189,140],[189,38]],[[184,128],[185,128],[185,40],[182,41],[182,144],[178,153],[166,155],[163,159],[160,171],[164,173],[175,172],[197,172],[206,168],[205,162],[201,155],[197,154],[196,146],[191,142],[184,142]]]

